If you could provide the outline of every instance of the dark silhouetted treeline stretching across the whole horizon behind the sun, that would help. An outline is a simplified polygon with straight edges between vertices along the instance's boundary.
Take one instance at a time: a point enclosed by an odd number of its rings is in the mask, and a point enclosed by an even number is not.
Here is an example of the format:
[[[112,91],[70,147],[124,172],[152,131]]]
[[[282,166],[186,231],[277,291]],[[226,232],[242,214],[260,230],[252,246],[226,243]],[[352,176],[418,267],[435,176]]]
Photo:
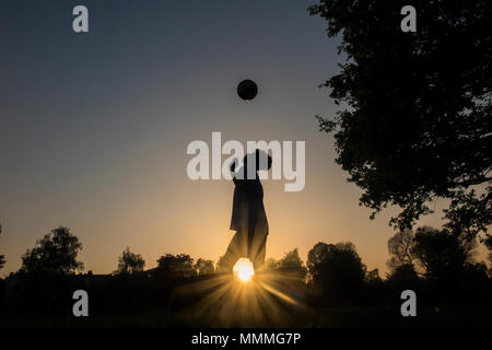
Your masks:
[[[478,242],[467,237],[426,226],[398,232],[388,241],[385,278],[377,269],[367,270],[350,242],[317,243],[306,262],[293,249],[281,259],[267,259],[257,275],[271,287],[266,293],[274,306],[269,307],[292,316],[284,326],[490,325],[491,270],[476,261]],[[127,247],[113,273],[94,275],[82,273],[81,249],[79,238],[62,226],[27,249],[20,270],[0,282],[0,325],[224,325],[211,323],[210,313],[207,318],[195,312],[220,290],[214,281],[235,279],[221,269],[221,259],[213,264],[165,254],[157,267],[145,270],[142,256]],[[400,314],[400,294],[408,289],[418,295],[419,317],[413,319]],[[75,290],[90,295],[87,318],[72,315]],[[216,303],[220,308],[226,302]],[[235,315],[232,311],[229,317]],[[277,325],[274,319],[258,322],[249,325]]]

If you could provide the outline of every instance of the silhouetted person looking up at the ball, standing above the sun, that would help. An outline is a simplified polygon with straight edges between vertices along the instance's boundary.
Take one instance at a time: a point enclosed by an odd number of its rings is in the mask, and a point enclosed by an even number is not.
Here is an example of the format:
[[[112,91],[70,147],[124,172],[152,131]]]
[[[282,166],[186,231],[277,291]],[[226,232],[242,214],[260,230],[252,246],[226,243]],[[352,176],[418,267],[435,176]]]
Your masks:
[[[246,154],[243,160],[244,166],[237,173],[235,172],[236,160],[231,164],[235,189],[230,229],[236,233],[223,258],[229,271],[242,257],[249,258],[255,270],[265,262],[268,221],[263,206],[263,188],[258,177],[258,171],[269,170],[271,162],[270,155],[256,150],[255,153]],[[255,163],[255,167],[248,170],[248,164],[254,166],[253,163]]]

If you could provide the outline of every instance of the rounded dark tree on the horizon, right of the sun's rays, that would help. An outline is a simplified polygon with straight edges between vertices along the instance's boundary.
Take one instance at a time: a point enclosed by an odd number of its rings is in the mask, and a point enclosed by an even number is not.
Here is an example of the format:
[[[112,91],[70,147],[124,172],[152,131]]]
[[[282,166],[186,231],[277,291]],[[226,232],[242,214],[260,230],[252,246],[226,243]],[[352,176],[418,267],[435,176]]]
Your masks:
[[[312,282],[328,298],[355,298],[366,276],[366,267],[350,242],[317,243],[307,254],[307,268]]]

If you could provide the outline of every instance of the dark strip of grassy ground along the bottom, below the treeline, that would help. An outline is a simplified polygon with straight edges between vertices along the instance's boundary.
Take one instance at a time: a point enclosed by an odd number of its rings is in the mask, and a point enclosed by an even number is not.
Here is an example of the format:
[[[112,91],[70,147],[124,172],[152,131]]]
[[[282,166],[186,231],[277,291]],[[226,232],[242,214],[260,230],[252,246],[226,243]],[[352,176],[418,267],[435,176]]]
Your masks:
[[[454,304],[436,313],[419,310],[417,317],[403,318],[385,313],[379,307],[325,307],[311,314],[295,314],[296,317],[280,320],[253,322],[251,318],[215,319],[192,317],[186,313],[140,313],[90,315],[89,317],[23,317],[0,318],[1,328],[105,328],[105,327],[492,327],[491,305]]]

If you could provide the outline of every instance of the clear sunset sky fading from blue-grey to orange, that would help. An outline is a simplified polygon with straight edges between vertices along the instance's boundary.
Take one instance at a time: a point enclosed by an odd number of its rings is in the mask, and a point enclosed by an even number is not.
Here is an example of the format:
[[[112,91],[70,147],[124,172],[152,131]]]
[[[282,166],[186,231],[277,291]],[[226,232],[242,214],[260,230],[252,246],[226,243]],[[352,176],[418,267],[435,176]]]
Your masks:
[[[126,246],[147,267],[163,254],[216,260],[234,186],[191,182],[192,140],[306,141],[306,186],[263,182],[267,256],[351,241],[386,271],[388,210],[376,220],[333,164],[315,115],[336,110],[318,89],[337,71],[337,40],[308,15],[314,0],[2,1],[0,3],[0,254],[4,276],[58,225],[83,243],[85,270],[116,269]],[[72,31],[85,4],[90,33]],[[236,85],[253,79],[244,103]],[[225,156],[224,156],[225,159]],[[440,214],[423,221],[438,224]]]

